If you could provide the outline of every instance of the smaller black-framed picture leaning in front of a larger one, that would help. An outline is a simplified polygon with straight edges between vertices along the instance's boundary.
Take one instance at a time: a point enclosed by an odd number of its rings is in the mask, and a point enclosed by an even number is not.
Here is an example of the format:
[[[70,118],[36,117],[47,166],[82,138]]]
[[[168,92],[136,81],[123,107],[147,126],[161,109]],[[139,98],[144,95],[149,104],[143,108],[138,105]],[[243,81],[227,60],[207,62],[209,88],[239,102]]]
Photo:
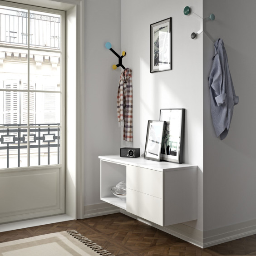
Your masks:
[[[164,121],[148,121],[144,158],[160,161]]]

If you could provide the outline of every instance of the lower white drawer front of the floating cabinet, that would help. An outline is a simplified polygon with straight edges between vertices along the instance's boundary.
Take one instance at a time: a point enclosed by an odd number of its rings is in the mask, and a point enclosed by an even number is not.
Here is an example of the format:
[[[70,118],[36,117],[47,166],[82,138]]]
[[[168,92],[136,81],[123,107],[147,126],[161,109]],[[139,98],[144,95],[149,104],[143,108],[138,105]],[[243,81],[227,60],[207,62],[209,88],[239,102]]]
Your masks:
[[[163,226],[163,199],[127,188],[126,211]]]

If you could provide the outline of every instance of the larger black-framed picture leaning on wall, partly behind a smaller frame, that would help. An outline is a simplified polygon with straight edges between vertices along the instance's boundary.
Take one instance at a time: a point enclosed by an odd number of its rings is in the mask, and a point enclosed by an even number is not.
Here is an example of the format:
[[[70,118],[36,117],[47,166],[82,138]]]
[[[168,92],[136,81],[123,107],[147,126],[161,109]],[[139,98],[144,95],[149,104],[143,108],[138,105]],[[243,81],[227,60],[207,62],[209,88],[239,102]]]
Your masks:
[[[160,120],[166,121],[160,159],[182,163],[185,108],[160,109]]]

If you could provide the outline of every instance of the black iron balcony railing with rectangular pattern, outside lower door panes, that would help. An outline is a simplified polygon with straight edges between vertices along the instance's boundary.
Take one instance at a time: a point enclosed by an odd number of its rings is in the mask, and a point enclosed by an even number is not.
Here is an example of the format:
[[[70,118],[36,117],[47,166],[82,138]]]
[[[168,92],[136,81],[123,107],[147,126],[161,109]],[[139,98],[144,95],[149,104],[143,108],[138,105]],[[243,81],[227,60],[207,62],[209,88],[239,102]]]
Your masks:
[[[59,164],[60,128],[56,126],[59,126],[59,123],[30,124],[30,138],[28,139],[26,124],[0,124],[0,152],[6,157],[6,167],[9,168],[10,155],[14,150],[17,155],[17,167],[20,167],[20,157],[28,148],[28,143],[30,152],[31,150],[33,153],[37,151],[38,165],[41,165],[42,151],[44,155],[47,154],[48,165],[53,164],[50,162],[51,154],[57,153],[56,163]]]

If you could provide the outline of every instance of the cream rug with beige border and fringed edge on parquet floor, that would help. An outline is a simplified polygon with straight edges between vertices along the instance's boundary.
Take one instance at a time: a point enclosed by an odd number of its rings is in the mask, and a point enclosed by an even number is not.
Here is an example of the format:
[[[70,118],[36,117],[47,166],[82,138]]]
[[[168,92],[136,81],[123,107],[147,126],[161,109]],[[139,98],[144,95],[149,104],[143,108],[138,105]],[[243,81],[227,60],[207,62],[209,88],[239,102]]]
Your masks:
[[[0,256],[114,256],[75,230],[0,243]]]

